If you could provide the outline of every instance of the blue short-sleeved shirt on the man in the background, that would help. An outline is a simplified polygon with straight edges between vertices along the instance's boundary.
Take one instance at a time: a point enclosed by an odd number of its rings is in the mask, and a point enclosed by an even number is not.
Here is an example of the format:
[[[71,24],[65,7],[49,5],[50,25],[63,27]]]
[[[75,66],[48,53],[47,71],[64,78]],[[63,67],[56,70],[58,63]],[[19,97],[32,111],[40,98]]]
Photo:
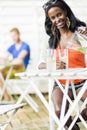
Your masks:
[[[21,47],[17,50],[15,44],[11,45],[8,48],[8,52],[12,54],[13,58],[17,58],[19,56],[19,54],[23,51],[27,51],[28,55],[24,58],[23,62],[24,62],[24,66],[25,68],[27,67],[27,65],[29,64],[29,60],[30,60],[30,47],[27,43],[22,42],[21,43]]]

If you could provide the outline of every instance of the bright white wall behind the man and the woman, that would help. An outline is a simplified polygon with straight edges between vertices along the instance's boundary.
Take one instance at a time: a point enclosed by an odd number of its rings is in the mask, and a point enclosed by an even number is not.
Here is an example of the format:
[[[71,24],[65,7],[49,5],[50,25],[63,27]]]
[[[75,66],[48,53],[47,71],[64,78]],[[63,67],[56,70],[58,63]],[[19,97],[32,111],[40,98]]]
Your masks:
[[[47,44],[44,31],[44,11],[46,0],[0,0],[0,50],[11,44],[9,30],[18,27],[21,37],[28,42],[32,58],[39,59],[40,49]],[[87,0],[66,0],[76,16],[87,22]]]

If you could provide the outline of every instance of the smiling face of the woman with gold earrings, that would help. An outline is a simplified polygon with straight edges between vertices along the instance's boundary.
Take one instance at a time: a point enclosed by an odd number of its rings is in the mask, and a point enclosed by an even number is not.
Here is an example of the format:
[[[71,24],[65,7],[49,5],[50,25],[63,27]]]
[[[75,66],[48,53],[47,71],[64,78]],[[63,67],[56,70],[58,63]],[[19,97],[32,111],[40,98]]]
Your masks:
[[[52,7],[48,11],[48,16],[53,25],[56,25],[58,29],[65,27],[67,17],[66,11],[62,10],[59,7]]]

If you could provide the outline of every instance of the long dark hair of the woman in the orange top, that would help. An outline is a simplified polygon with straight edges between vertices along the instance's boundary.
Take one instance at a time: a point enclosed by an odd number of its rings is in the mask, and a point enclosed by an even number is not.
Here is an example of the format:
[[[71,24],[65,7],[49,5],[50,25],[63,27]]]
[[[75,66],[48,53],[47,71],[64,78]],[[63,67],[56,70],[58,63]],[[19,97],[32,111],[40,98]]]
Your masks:
[[[49,9],[51,9],[52,7],[59,7],[64,11],[67,11],[67,17],[70,20],[70,27],[69,30],[71,32],[75,32],[77,30],[78,27],[80,26],[86,26],[86,23],[84,23],[83,21],[80,21],[79,19],[77,19],[74,15],[74,13],[72,12],[71,8],[69,7],[69,5],[64,1],[64,0],[50,0],[48,1],[44,6],[44,10],[45,10],[45,30],[46,33],[50,36],[49,38],[49,47],[50,48],[57,48],[58,44],[59,44],[59,40],[60,40],[60,32],[58,30],[57,27],[55,27],[55,35],[53,35],[52,33],[52,22],[48,16],[48,11]]]

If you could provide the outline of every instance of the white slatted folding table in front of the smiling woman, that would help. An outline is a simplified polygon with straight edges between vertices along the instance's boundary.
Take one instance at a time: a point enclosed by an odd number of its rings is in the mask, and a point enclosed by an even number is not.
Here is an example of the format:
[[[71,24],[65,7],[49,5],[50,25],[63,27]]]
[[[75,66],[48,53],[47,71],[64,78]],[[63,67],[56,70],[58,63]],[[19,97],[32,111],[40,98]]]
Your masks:
[[[35,93],[38,95],[42,103],[45,105],[49,112],[49,119],[50,119],[50,130],[55,130],[54,129],[54,121],[58,125],[58,130],[65,130],[64,125],[66,124],[67,120],[69,119],[70,115],[75,112],[75,118],[73,122],[71,123],[70,127],[68,130],[71,130],[73,125],[75,124],[76,120],[78,117],[80,118],[81,122],[83,123],[84,127],[87,129],[87,123],[84,121],[82,116],[80,115],[81,111],[87,104],[87,98],[83,102],[82,106],[79,107],[79,101],[84,94],[84,92],[87,90],[87,81],[85,81],[84,85],[82,86],[80,92],[78,95],[76,95],[75,91],[75,86],[73,81],[75,79],[87,79],[87,68],[76,68],[76,69],[64,69],[64,70],[57,70],[55,72],[49,72],[47,70],[31,70],[29,73],[24,72],[24,73],[17,73],[16,76],[19,76],[23,80],[28,80],[29,84],[31,87],[35,90]],[[39,80],[40,78],[46,78],[48,79],[48,94],[49,94],[49,101],[45,99],[41,91],[38,89],[36,83],[34,82],[34,79]],[[66,85],[63,88],[62,84],[59,82],[59,80],[65,79],[66,80]],[[51,101],[51,94],[53,91],[53,84],[54,81],[58,84],[58,87],[61,89],[63,92],[63,102],[62,102],[62,108],[61,108],[61,114],[60,114],[60,119],[55,115],[54,112],[54,107]],[[68,86],[71,83],[72,85],[72,91],[74,95],[74,101],[70,99],[68,96]],[[26,88],[27,90],[27,88]],[[25,91],[26,91],[25,90]],[[25,92],[21,94],[21,97],[23,98]],[[68,112],[65,114],[65,107],[66,107],[66,101],[69,101],[71,107],[69,108]]]

